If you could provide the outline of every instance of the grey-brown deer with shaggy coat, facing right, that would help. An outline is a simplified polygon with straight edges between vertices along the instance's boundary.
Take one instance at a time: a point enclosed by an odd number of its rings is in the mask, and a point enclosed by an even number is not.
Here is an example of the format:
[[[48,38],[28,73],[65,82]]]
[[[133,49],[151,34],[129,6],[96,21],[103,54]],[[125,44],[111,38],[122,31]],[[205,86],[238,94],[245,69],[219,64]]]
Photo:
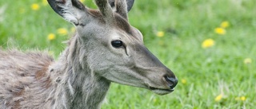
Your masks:
[[[134,0],[48,0],[76,32],[57,60],[46,52],[0,50],[0,108],[99,109],[111,83],[174,91],[178,79],[130,25]]]

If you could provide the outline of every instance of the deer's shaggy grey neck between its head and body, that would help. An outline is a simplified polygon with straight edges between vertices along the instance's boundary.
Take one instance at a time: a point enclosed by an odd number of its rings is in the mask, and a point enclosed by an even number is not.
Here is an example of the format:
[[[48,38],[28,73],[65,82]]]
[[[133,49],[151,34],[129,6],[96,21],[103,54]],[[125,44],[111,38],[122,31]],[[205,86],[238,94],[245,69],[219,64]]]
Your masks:
[[[80,49],[76,40],[71,41],[54,67],[59,73],[54,76],[55,108],[98,109],[110,87],[109,81],[94,75]]]

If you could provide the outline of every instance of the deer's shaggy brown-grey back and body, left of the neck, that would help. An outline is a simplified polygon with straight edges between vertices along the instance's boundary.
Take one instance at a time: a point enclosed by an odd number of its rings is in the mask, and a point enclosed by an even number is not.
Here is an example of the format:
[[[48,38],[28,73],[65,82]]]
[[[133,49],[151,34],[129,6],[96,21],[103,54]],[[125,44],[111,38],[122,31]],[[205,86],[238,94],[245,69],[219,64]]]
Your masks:
[[[46,70],[52,62],[52,57],[42,53],[0,51],[0,86],[3,87],[0,89],[1,106],[22,108],[22,101],[37,94],[32,91],[34,86],[49,88],[50,79],[46,76]]]

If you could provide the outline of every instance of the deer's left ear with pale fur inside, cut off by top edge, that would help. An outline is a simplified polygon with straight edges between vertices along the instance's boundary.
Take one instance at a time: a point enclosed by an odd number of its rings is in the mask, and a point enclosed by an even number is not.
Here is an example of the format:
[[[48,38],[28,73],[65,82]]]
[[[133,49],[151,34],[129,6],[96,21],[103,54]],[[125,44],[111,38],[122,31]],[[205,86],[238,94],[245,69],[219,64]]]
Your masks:
[[[66,21],[79,25],[78,19],[86,16],[87,9],[78,0],[47,0],[51,8]]]

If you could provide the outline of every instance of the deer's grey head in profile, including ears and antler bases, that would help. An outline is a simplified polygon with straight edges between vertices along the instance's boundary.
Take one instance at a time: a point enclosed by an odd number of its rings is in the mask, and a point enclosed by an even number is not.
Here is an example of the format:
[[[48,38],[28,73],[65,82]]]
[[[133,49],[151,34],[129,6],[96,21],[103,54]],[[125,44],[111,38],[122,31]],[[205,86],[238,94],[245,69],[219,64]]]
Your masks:
[[[127,12],[134,0],[95,0],[99,10],[91,10],[78,0],[48,2],[76,27],[76,40],[86,56],[81,61],[88,64],[92,75],[158,95],[174,91],[178,83],[174,73],[146,49],[142,33],[128,22]]]

